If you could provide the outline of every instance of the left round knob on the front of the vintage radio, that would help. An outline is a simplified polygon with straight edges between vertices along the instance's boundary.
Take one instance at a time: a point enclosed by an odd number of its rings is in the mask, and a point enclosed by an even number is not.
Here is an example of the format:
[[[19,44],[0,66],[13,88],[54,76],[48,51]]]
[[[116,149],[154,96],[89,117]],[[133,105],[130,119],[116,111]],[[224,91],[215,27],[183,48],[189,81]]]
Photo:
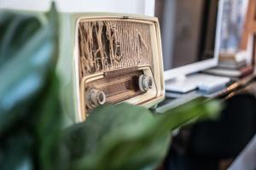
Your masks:
[[[87,106],[90,109],[93,109],[98,105],[104,105],[106,103],[106,94],[101,90],[97,90],[95,88],[90,89],[86,97]]]

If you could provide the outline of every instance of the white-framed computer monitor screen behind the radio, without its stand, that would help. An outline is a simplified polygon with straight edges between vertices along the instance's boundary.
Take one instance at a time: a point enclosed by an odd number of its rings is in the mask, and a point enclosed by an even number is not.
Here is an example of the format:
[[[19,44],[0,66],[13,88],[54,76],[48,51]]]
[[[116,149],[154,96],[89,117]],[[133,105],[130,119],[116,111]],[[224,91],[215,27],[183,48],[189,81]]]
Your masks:
[[[165,80],[218,65],[223,0],[156,1]]]

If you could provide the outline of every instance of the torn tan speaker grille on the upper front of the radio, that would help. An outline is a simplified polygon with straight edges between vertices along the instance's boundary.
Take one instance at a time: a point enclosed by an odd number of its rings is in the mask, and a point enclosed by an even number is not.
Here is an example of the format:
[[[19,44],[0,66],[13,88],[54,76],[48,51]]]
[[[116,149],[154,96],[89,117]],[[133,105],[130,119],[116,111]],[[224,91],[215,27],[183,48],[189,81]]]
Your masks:
[[[148,65],[153,69],[150,25],[131,20],[79,22],[79,76]]]

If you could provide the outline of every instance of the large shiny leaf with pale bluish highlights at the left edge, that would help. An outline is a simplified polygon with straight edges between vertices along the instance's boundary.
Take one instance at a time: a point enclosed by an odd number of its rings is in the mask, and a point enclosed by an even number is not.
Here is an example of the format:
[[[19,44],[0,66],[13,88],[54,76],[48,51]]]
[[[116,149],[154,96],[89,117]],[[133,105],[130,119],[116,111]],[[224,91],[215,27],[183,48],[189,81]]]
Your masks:
[[[20,15],[10,18],[9,15],[6,15],[6,17],[7,19],[3,20],[9,20],[10,23],[27,20],[27,17],[20,17]],[[29,18],[32,19],[32,16]],[[36,20],[35,17],[26,24],[34,25],[34,20]],[[0,67],[0,134],[12,123],[15,123],[15,120],[26,115],[32,101],[37,97],[38,91],[44,87],[48,71],[54,66],[52,56],[55,54],[55,32],[51,29],[52,26],[49,25],[40,27],[32,37],[28,37],[20,45],[17,51],[16,48],[9,47],[9,51],[12,51],[10,54],[13,56],[9,55],[9,59],[6,59],[4,65]],[[19,31],[14,30],[13,34],[17,34],[16,31]],[[13,40],[12,36],[9,37],[11,39],[0,38],[5,41],[0,44],[19,42],[18,38]],[[24,37],[20,36],[20,38]],[[9,53],[3,52],[3,54]]]

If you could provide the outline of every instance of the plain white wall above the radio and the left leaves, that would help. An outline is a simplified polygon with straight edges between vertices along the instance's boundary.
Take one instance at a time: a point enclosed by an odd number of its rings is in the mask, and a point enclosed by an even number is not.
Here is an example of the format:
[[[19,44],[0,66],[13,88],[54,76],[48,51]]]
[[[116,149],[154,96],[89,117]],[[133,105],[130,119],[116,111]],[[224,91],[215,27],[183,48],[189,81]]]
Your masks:
[[[51,0],[0,0],[0,8],[47,10]],[[113,12],[154,16],[154,0],[55,0],[61,11]]]

